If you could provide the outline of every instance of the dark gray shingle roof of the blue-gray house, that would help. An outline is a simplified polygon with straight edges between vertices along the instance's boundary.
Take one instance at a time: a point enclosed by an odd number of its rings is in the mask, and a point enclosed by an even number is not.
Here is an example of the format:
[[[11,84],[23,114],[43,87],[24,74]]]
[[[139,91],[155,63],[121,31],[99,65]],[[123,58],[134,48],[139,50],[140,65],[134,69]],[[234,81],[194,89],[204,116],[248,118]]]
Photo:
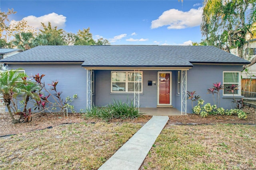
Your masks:
[[[238,63],[247,60],[213,46],[73,45],[38,46],[0,60],[12,62],[83,62],[82,66],[192,66],[191,63]]]

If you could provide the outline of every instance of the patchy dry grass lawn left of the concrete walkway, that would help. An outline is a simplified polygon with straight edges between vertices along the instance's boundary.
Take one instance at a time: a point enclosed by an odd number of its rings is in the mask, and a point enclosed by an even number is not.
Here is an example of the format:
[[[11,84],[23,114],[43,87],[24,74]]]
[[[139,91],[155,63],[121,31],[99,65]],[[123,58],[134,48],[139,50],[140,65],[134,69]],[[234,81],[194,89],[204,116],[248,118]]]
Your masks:
[[[79,123],[0,138],[0,169],[98,169],[141,126]]]

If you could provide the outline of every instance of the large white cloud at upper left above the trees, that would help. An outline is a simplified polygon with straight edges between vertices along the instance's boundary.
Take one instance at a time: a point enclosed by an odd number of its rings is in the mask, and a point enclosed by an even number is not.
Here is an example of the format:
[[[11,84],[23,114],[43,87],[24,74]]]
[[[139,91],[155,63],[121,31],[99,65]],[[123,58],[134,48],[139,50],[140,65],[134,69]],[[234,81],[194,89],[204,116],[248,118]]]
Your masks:
[[[28,22],[28,26],[31,26],[35,29],[42,29],[41,22],[46,26],[48,22],[52,24],[53,27],[57,26],[58,28],[64,28],[66,22],[66,16],[58,15],[56,13],[46,14],[44,16],[36,17],[36,16],[27,16],[22,20],[26,20]],[[12,20],[10,24],[16,24],[18,21]]]

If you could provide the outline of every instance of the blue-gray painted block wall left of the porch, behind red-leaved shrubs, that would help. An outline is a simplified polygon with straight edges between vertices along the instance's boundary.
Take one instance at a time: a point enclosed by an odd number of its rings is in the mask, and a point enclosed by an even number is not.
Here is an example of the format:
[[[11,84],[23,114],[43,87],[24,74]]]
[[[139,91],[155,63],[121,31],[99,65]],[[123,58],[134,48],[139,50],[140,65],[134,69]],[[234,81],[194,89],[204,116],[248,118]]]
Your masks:
[[[9,64],[6,67],[8,69],[23,68],[28,76],[45,74],[42,80],[46,85],[58,80],[57,90],[63,91],[62,98],[65,100],[67,96],[72,98],[77,94],[77,98],[71,105],[74,105],[77,112],[80,109],[86,109],[86,70],[81,67],[81,64]]]

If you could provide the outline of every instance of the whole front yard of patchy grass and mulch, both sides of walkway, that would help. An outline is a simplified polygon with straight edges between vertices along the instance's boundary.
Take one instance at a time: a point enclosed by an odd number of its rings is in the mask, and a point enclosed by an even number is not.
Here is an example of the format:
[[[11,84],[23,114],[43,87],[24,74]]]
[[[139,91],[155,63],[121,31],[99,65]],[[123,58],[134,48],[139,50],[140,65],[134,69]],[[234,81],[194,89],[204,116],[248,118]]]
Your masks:
[[[256,169],[256,111],[245,110],[243,120],[171,116],[140,169]],[[0,169],[98,169],[149,119],[105,123],[46,114],[12,125],[1,113],[0,136],[16,135],[0,137]]]

